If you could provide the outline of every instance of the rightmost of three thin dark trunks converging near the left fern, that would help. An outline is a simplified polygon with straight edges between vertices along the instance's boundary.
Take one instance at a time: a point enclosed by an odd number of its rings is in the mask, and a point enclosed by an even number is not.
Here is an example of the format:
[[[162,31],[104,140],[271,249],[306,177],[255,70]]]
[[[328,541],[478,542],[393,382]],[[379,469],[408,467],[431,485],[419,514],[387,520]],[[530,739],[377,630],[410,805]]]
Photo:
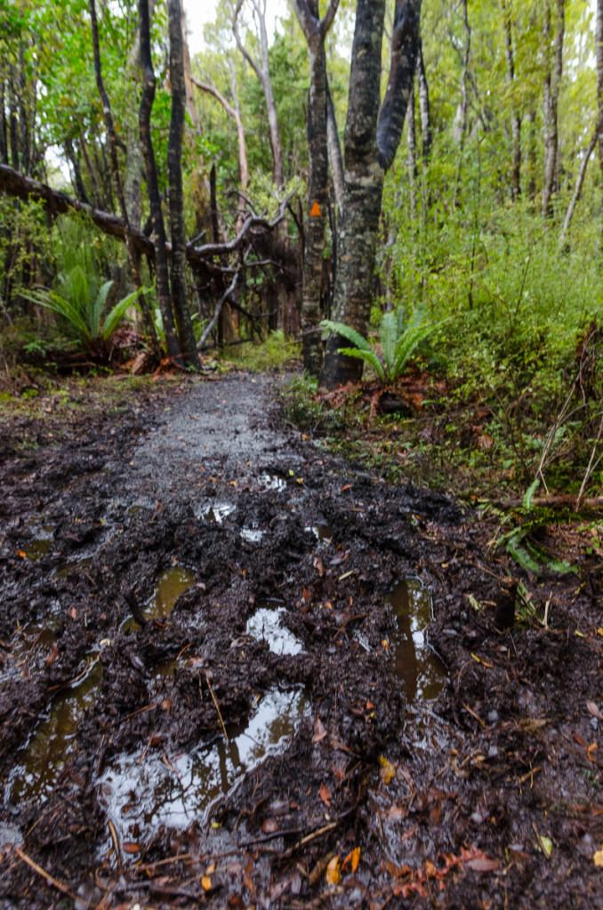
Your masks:
[[[184,79],[184,40],[180,0],[168,2],[169,76],[171,81],[171,117],[169,121],[168,178],[169,224],[171,230],[171,297],[180,349],[188,367],[199,369],[199,354],[189,313],[187,294],[187,238],[184,225],[182,192],[182,139],[186,111]]]

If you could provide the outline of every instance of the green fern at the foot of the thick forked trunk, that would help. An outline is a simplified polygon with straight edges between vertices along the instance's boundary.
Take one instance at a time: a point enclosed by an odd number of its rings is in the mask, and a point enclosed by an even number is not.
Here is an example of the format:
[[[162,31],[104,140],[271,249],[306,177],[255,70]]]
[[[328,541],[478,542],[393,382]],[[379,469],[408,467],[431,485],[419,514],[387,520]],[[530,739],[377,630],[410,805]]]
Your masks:
[[[363,338],[360,332],[344,325],[342,322],[332,322],[331,319],[323,319],[321,325],[322,328],[329,329],[341,335],[342,338],[351,341],[354,347],[340,348],[339,353],[368,363],[385,384],[400,379],[414,350],[432,331],[431,326],[421,324],[411,325],[406,329],[402,329],[401,322],[399,314],[389,312],[383,315],[381,320],[383,363],[370,342]]]

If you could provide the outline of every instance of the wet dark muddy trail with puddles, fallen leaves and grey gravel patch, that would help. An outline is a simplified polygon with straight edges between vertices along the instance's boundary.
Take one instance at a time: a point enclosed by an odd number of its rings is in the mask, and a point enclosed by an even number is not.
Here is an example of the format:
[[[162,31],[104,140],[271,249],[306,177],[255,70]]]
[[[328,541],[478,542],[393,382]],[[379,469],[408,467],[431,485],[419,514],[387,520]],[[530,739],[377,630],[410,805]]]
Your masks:
[[[273,391],[0,427],[0,906],[603,907],[599,564],[527,578]]]

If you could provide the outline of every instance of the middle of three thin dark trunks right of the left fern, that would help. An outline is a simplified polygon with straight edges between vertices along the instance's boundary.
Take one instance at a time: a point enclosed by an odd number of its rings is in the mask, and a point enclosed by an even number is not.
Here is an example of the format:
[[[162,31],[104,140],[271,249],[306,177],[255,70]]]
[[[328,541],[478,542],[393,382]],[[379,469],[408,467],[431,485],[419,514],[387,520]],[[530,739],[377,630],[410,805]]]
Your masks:
[[[138,0],[138,28],[140,31],[140,66],[144,77],[144,91],[138,111],[138,126],[140,128],[140,141],[142,154],[147,170],[148,204],[150,206],[151,224],[153,226],[153,241],[155,247],[155,266],[157,269],[157,297],[163,332],[168,348],[168,357],[179,366],[183,365],[182,350],[176,336],[174,314],[171,308],[171,295],[169,292],[168,252],[166,248],[166,228],[163,223],[161,211],[161,197],[157,177],[157,165],[150,130],[150,116],[155,100],[155,72],[150,45],[150,22],[148,18],[148,0]]]

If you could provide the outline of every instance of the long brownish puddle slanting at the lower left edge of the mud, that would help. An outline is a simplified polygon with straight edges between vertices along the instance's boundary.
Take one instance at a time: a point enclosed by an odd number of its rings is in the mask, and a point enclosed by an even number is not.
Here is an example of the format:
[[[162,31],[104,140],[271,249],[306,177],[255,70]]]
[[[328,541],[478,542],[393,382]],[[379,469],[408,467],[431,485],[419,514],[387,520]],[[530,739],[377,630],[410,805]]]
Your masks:
[[[13,804],[35,799],[42,802],[52,793],[66,759],[74,751],[77,726],[97,700],[103,668],[93,661],[86,675],[56,699],[50,713],[25,747],[25,760],[16,765],[7,792]]]

